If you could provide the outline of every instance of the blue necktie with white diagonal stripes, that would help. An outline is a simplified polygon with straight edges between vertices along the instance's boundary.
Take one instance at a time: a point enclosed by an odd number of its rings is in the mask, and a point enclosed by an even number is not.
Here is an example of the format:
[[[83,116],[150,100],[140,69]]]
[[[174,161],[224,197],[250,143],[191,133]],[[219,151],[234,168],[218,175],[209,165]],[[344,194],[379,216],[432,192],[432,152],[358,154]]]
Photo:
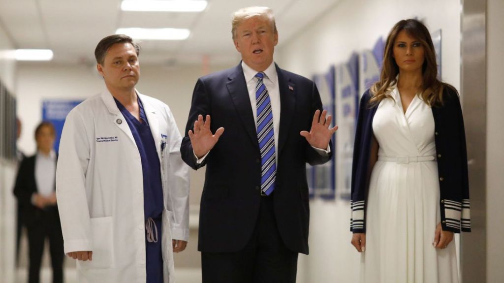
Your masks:
[[[264,85],[263,72],[255,76],[257,105],[257,137],[261,150],[261,193],[270,195],[275,189],[277,165],[275,159],[275,135],[273,132],[273,112],[271,111],[270,95]]]

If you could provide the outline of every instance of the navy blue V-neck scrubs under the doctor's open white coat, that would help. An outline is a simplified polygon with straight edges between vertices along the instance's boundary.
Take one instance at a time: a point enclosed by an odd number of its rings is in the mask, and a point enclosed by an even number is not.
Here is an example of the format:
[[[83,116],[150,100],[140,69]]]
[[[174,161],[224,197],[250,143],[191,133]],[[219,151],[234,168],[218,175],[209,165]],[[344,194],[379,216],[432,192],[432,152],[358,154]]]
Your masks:
[[[130,126],[135,138],[140,159],[142,161],[142,175],[144,179],[144,217],[145,221],[152,218],[157,227],[157,243],[145,242],[147,283],[163,282],[163,257],[161,253],[161,216],[163,214],[163,186],[161,184],[161,166],[156,151],[156,144],[152,137],[151,128],[145,115],[142,101],[138,98],[140,120],[137,120],[115,98],[115,104]],[[154,228],[153,228],[154,230]]]

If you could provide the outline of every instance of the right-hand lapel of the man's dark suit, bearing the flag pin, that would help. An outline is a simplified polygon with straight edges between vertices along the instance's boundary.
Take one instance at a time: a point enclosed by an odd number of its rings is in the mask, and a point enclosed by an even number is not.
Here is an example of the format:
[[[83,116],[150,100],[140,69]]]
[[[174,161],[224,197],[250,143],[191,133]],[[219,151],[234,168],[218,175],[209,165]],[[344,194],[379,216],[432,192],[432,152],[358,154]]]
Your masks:
[[[290,123],[296,107],[296,85],[291,82],[288,75],[275,64],[277,68],[278,86],[280,90],[280,133],[278,134],[278,153],[280,156],[289,134]]]

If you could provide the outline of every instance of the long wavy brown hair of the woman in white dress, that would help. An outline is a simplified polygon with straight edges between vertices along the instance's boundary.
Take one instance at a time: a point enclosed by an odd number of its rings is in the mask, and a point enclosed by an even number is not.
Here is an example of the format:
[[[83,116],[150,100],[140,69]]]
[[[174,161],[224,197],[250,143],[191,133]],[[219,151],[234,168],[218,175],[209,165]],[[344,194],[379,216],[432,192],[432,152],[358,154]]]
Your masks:
[[[450,88],[457,92],[455,88],[449,84],[445,84],[437,79],[437,65],[434,45],[432,38],[427,28],[418,20],[408,19],[399,21],[389,33],[387,43],[385,45],[382,73],[380,81],[371,86],[371,98],[369,103],[371,105],[380,103],[383,99],[390,96],[392,86],[397,83],[397,75],[399,74],[399,66],[394,59],[394,42],[397,35],[401,31],[415,38],[422,44],[424,48],[424,60],[422,65],[422,85],[419,92],[422,100],[429,106],[437,104],[443,105],[443,89]]]

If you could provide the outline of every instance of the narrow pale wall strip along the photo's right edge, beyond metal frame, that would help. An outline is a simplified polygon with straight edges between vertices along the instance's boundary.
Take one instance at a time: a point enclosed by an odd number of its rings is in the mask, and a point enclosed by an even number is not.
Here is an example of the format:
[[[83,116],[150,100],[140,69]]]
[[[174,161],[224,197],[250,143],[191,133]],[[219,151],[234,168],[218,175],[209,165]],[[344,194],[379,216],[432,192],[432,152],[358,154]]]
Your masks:
[[[504,278],[504,1],[487,2],[487,148],[486,148],[486,251],[487,282],[502,282]]]

